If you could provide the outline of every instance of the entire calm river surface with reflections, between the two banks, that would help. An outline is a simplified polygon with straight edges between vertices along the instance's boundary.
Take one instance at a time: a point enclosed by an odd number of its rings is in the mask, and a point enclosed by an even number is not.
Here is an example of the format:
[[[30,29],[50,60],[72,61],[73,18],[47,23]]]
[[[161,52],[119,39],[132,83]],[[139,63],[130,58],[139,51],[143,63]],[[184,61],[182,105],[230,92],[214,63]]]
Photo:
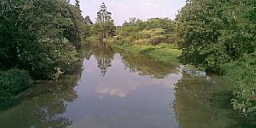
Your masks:
[[[190,75],[147,55],[82,52],[76,73],[37,83],[0,111],[0,128],[250,127],[228,104],[224,79]]]

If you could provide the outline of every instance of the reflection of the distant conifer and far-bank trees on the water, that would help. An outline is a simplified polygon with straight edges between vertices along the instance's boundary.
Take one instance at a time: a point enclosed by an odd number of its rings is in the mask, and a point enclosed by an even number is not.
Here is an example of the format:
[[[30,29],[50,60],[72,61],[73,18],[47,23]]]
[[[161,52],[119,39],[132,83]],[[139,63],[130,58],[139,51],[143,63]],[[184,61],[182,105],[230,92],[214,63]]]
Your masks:
[[[109,47],[91,47],[93,50],[90,55],[94,55],[97,60],[97,65],[101,70],[102,76],[105,76],[111,62],[114,59],[116,51]],[[125,67],[131,72],[136,72],[140,76],[152,76],[155,79],[163,79],[171,73],[177,73],[177,65],[166,64],[163,61],[157,61],[148,55],[132,54],[127,52],[117,51],[122,57],[122,62]]]

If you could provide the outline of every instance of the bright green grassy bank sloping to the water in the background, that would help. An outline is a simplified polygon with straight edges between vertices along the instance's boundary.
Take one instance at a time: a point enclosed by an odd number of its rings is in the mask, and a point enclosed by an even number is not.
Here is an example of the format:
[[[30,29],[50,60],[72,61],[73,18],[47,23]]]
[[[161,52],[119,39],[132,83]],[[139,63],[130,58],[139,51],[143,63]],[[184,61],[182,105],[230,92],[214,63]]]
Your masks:
[[[119,48],[128,52],[147,54],[166,63],[180,64],[178,57],[181,55],[181,50],[173,48],[170,44],[159,44],[154,47],[146,44],[128,45],[113,43],[111,44],[111,47]]]

